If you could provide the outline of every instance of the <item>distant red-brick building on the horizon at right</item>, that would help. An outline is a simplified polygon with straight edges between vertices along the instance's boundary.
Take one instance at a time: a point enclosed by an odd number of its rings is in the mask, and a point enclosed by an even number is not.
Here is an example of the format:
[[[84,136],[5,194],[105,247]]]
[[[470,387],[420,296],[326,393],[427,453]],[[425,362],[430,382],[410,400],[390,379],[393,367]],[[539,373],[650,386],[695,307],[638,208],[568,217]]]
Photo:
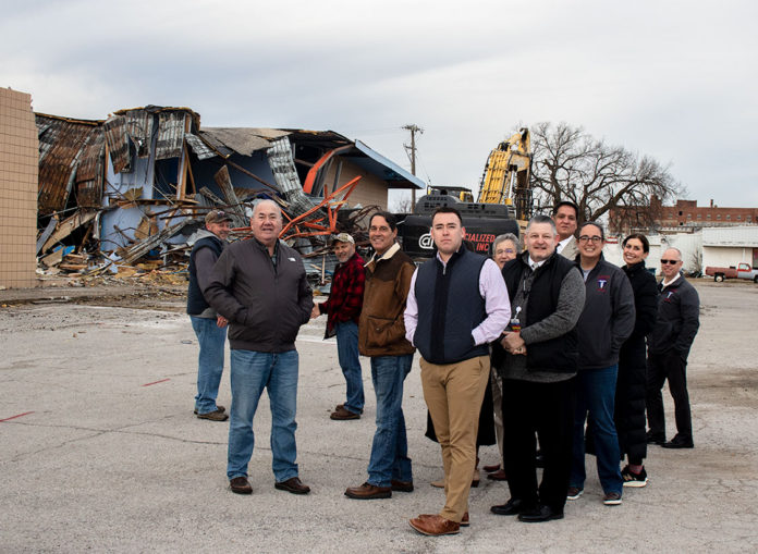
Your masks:
[[[708,207],[698,207],[696,200],[676,200],[674,206],[663,206],[653,195],[650,206],[620,206],[610,210],[609,220],[611,233],[616,234],[632,230],[681,232],[685,229],[755,225],[758,224],[758,208],[722,208],[713,200]]]

